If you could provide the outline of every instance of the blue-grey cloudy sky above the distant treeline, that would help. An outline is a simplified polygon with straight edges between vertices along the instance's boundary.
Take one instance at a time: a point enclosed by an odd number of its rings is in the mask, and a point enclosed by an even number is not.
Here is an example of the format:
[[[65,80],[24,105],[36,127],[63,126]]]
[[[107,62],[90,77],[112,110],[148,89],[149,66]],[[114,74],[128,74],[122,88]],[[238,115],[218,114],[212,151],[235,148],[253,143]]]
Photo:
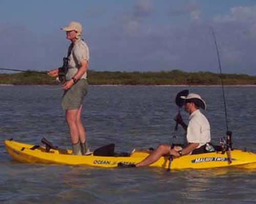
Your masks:
[[[70,21],[91,70],[219,73],[213,30],[222,72],[256,75],[255,0],[1,0],[0,68],[61,66]]]

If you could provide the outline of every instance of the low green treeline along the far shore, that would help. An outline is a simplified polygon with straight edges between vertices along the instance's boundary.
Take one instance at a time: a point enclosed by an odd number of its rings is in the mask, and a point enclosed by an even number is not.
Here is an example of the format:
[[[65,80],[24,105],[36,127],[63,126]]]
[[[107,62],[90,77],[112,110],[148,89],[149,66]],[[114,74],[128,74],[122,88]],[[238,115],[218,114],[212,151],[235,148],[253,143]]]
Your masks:
[[[159,72],[88,71],[90,85],[256,85],[256,76],[247,74],[218,74],[184,72],[178,69]],[[0,84],[56,85],[54,78],[44,72],[0,73]]]

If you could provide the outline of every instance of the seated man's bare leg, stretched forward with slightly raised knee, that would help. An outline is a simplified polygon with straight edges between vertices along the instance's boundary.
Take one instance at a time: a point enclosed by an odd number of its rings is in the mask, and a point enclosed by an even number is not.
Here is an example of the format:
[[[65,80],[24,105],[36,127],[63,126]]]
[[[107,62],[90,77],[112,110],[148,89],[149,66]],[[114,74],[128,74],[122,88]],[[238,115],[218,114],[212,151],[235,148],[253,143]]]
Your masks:
[[[170,152],[170,145],[160,144],[155,151],[153,151],[147,158],[136,164],[136,167],[147,166],[153,164],[163,155],[167,155]]]

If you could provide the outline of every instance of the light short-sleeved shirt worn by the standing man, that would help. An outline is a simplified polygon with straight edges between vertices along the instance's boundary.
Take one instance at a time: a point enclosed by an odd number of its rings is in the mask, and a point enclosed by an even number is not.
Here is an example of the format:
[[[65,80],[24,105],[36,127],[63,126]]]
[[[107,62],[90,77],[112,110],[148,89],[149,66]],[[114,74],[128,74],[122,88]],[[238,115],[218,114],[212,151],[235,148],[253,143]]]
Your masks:
[[[72,47],[69,47],[69,50]],[[70,51],[69,51],[70,52]],[[69,63],[68,63],[68,72],[66,74],[66,80],[70,80],[76,72],[78,71],[78,68],[81,66],[81,63],[84,60],[87,60],[89,62],[89,48],[83,40],[79,39],[75,42],[71,54],[69,56]],[[87,79],[87,72],[85,72],[81,79]]]

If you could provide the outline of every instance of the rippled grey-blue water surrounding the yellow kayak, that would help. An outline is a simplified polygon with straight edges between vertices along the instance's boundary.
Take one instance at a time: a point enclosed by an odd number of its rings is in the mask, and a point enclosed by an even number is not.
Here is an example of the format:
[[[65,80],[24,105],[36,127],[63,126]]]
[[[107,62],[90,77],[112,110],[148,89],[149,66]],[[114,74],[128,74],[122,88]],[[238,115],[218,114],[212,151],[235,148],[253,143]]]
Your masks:
[[[178,113],[174,100],[183,89],[205,98],[218,143],[226,131],[221,87],[91,86],[82,118],[90,148],[114,142],[118,152],[170,143]],[[234,147],[256,152],[256,87],[225,87],[225,93]],[[255,170],[166,172],[13,161],[5,139],[39,144],[45,137],[70,148],[60,99],[57,86],[0,86],[0,203],[255,203]],[[182,140],[180,129],[178,135]]]

